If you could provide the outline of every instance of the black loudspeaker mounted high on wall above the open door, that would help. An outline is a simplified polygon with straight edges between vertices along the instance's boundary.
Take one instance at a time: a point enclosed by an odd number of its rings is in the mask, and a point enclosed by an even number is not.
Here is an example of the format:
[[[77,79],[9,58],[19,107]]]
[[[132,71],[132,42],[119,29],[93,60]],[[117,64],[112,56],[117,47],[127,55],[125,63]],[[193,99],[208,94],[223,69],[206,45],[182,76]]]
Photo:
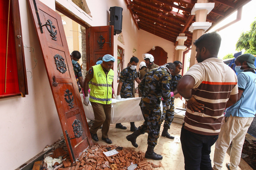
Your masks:
[[[114,35],[122,32],[122,12],[121,7],[110,7],[110,25],[114,26]]]

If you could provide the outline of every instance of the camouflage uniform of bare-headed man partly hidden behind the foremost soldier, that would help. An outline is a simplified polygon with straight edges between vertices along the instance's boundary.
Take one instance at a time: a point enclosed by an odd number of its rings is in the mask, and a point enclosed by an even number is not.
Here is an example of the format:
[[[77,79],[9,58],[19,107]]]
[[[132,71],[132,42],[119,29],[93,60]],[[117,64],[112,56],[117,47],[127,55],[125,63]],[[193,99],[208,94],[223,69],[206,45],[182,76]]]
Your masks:
[[[175,91],[177,89],[177,84],[178,81],[181,79],[181,75],[180,74],[176,74],[174,77],[172,77],[172,81],[171,81],[171,91]],[[170,105],[170,109],[165,110],[165,107],[163,108],[163,115],[161,118],[161,122],[163,122],[164,120],[164,124],[163,127],[164,128],[168,128],[170,129],[171,123],[173,121],[174,118],[174,99],[175,97],[171,97],[171,105]]]

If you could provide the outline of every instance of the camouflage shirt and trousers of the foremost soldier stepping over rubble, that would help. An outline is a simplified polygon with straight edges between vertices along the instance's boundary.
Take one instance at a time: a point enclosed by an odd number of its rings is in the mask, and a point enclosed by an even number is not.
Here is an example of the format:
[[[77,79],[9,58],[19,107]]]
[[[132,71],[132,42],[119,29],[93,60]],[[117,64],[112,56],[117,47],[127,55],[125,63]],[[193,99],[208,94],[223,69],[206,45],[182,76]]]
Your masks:
[[[160,102],[163,97],[164,106],[171,102],[170,74],[164,67],[152,69],[146,73],[139,84],[142,93],[140,107],[144,117],[144,123],[138,129],[142,134],[148,133],[148,145],[156,146],[161,126]]]

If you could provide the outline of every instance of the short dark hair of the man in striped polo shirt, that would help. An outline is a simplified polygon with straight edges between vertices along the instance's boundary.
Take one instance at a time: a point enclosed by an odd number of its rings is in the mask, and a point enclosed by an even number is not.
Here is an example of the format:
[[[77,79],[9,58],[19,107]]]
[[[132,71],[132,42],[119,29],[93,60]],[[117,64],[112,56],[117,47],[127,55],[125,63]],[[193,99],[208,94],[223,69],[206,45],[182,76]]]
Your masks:
[[[200,50],[205,47],[211,54],[218,54],[221,43],[220,35],[214,31],[203,34],[193,42],[194,46]]]

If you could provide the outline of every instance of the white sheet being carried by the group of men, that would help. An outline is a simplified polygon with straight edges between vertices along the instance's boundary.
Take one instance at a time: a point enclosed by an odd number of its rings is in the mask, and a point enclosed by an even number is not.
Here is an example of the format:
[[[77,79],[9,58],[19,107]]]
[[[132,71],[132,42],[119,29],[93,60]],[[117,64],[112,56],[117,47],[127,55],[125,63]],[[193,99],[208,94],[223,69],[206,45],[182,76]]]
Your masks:
[[[83,94],[80,95],[82,101],[84,100]],[[111,108],[111,124],[125,123],[125,122],[138,122],[144,121],[139,106],[141,98],[127,98],[122,101],[112,99]],[[91,102],[88,106],[83,104],[85,116],[89,120],[94,120],[94,113]]]

